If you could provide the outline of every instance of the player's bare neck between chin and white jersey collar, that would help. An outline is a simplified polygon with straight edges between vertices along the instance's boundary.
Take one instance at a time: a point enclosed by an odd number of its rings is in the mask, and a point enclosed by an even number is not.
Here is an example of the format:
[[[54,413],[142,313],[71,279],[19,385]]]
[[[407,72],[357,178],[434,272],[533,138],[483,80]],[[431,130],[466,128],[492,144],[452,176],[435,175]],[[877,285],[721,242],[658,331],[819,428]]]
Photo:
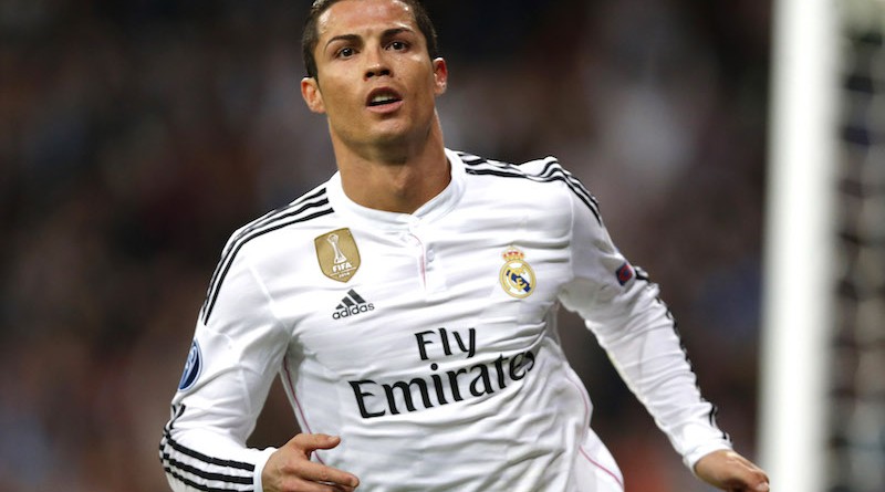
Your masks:
[[[344,193],[376,210],[412,213],[451,180],[439,123],[418,143],[352,148],[332,139]]]

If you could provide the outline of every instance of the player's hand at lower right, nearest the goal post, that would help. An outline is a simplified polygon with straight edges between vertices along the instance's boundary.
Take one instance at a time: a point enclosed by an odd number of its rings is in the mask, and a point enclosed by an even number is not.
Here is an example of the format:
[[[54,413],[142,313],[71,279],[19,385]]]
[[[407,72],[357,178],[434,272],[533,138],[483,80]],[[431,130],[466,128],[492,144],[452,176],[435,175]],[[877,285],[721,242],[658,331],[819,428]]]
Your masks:
[[[728,492],[767,492],[768,475],[735,451],[714,451],[695,463],[705,482]]]

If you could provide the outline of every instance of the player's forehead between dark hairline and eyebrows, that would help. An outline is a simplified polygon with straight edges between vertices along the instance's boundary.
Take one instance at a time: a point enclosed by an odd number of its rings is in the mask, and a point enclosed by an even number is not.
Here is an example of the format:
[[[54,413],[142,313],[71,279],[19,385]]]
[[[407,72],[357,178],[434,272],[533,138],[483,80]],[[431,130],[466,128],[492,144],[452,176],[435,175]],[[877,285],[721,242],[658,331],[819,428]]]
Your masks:
[[[391,28],[417,31],[412,9],[398,0],[343,0],[334,3],[317,19],[321,40]]]

